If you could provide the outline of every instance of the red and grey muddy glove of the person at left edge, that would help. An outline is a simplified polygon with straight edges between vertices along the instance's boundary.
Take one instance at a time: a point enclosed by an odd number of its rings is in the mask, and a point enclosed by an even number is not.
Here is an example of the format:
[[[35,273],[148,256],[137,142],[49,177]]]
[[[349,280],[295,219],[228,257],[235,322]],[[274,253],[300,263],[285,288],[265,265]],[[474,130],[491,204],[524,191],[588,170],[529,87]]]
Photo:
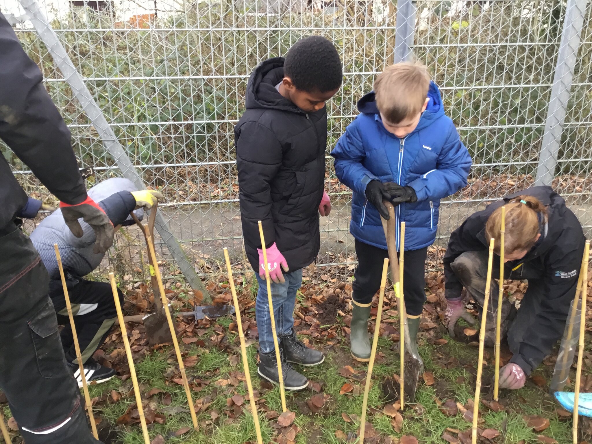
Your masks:
[[[60,202],[62,216],[67,227],[76,237],[82,237],[84,232],[78,222],[82,218],[95,231],[95,245],[93,251],[95,254],[104,254],[113,243],[113,224],[109,220],[105,211],[90,197],[86,197],[84,202],[76,205]]]

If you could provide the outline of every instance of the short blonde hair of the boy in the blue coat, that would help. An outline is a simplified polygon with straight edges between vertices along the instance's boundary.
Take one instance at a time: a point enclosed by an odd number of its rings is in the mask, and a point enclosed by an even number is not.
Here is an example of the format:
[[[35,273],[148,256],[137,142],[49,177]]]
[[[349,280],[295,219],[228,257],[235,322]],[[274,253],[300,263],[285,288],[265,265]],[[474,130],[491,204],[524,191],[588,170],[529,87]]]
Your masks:
[[[422,112],[429,88],[426,66],[418,62],[396,63],[374,81],[376,105],[388,123],[398,124]]]

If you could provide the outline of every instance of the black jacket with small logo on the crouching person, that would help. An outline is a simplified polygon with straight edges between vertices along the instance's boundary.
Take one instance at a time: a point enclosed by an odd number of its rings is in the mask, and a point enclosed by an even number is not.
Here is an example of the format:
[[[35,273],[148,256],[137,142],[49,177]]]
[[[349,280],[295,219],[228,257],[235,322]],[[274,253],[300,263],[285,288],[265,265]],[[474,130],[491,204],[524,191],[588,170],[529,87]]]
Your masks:
[[[527,268],[529,275],[539,275],[536,288],[542,292],[536,297],[541,299],[542,310],[536,314],[532,329],[523,337],[519,356],[514,355],[511,362],[516,362],[529,372],[533,363],[540,363],[551,346],[564,332],[565,320],[570,303],[575,296],[580,266],[584,252],[584,232],[575,214],[565,206],[564,199],[549,186],[533,186],[514,194],[507,195],[500,201],[489,205],[485,210],[469,216],[456,229],[448,243],[444,256],[444,274],[446,277],[446,298],[461,295],[462,284],[452,271],[451,263],[467,251],[488,248],[485,239],[485,223],[496,208],[520,195],[536,197],[547,210],[548,221],[542,226],[543,237],[526,256],[520,260],[506,263],[504,269],[513,269],[523,264],[517,272],[509,275],[511,279],[520,279],[520,271]],[[546,234],[545,234],[546,232]],[[499,256],[494,258],[493,275],[499,274]],[[529,279],[529,287],[534,284]],[[535,285],[532,285],[535,288]],[[530,295],[527,293],[526,297]],[[532,295],[534,297],[535,295]],[[536,365],[535,365],[536,366]]]

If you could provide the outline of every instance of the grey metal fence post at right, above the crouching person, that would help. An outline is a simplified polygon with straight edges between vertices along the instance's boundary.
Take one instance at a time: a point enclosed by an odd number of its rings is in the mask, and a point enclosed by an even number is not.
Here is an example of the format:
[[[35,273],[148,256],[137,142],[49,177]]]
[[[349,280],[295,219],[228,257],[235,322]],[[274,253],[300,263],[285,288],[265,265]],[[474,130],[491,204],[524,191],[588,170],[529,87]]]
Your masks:
[[[571,83],[574,79],[575,63],[584,25],[587,0],[568,0],[565,19],[561,31],[561,43],[555,66],[551,98],[545,121],[540,148],[539,163],[536,167],[535,185],[551,185],[555,176],[557,155],[561,146],[561,134],[570,100]]]

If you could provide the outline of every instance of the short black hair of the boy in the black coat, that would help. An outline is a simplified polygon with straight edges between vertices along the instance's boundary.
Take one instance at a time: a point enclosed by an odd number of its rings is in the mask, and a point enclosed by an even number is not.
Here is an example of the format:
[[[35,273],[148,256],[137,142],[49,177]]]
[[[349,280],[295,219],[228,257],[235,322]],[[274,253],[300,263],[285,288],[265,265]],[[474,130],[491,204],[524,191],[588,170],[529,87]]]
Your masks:
[[[343,81],[339,54],[333,43],[321,36],[301,38],[288,50],[284,75],[306,92],[333,91]]]

